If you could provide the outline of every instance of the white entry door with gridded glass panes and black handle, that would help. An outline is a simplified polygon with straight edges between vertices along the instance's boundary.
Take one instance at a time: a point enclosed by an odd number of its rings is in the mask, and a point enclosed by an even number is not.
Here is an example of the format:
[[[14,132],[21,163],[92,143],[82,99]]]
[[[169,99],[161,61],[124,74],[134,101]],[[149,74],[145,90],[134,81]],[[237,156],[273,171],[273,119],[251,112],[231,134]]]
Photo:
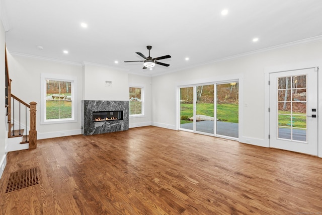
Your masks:
[[[270,74],[270,147],[317,155],[317,68]]]

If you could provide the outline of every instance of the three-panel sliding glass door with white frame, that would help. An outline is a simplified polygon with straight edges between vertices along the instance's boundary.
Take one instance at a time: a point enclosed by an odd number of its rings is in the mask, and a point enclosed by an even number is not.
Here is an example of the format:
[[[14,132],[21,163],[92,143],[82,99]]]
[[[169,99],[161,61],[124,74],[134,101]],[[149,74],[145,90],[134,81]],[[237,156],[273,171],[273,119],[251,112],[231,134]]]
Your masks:
[[[179,88],[180,129],[238,138],[238,82]]]

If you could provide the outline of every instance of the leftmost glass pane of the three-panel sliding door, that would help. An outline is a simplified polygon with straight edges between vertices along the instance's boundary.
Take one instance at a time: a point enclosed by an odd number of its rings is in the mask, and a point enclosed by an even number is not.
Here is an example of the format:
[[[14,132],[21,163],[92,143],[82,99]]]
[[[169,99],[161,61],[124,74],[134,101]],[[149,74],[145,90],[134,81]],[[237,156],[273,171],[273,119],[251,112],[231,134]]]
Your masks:
[[[193,87],[180,88],[180,128],[193,130]]]

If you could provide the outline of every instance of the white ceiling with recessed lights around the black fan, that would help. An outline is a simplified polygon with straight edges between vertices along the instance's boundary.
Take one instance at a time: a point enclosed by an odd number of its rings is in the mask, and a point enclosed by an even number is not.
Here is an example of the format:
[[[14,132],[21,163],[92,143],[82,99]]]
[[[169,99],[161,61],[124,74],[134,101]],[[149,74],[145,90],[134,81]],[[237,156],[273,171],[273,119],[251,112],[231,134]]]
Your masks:
[[[148,76],[322,38],[321,0],[1,0],[1,15],[11,53]],[[159,60],[170,66],[123,62],[142,60],[135,52],[147,56],[147,45],[151,57],[170,54]]]

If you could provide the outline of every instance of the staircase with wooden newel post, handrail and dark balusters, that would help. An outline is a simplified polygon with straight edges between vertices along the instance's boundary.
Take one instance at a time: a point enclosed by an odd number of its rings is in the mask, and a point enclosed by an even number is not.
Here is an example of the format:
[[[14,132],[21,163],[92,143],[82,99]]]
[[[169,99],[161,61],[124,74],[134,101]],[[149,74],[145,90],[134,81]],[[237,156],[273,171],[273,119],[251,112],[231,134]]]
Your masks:
[[[11,93],[6,49],[6,109],[8,122],[8,152],[36,149],[36,102],[29,104]],[[29,110],[29,111],[28,111]],[[29,114],[28,114],[29,113]],[[28,126],[29,124],[29,126]]]

